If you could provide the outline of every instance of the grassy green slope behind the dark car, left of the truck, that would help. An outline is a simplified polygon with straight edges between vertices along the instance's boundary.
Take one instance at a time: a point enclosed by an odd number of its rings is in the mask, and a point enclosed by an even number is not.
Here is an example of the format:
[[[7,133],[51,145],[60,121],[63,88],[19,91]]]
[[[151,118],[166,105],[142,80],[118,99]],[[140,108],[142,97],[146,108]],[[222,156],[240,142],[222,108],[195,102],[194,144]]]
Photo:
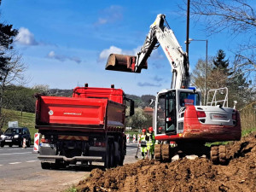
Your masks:
[[[38,132],[35,129],[35,113],[26,113],[20,111],[14,111],[9,109],[3,109],[3,113],[8,116],[8,121],[18,121],[19,127],[27,127],[30,131],[32,143],[34,142],[34,134]],[[3,131],[8,128],[8,121],[3,125]]]

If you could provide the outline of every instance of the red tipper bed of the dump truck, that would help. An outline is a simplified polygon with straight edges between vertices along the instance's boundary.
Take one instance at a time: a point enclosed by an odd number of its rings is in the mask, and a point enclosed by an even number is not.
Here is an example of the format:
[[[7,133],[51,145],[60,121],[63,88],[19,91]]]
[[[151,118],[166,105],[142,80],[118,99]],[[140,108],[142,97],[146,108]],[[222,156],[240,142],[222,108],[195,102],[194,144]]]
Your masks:
[[[108,98],[38,96],[38,129],[121,131],[124,129],[124,121],[125,106],[109,101]]]

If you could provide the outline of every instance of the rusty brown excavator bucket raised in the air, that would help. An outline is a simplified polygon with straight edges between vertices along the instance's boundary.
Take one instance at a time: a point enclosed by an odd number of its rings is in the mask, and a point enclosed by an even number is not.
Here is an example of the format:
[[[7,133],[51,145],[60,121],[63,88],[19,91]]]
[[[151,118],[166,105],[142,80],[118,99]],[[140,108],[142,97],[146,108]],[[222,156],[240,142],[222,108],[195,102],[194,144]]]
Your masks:
[[[148,68],[148,63],[146,61],[142,67],[137,68],[135,71],[135,63],[136,56],[110,54],[105,69],[119,72],[141,73],[142,68]]]

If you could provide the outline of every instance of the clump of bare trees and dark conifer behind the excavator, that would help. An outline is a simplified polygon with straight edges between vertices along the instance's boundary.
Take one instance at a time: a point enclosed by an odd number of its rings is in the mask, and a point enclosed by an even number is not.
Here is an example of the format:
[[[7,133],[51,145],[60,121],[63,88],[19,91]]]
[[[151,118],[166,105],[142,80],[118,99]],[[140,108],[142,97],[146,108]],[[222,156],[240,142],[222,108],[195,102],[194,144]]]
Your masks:
[[[255,98],[255,90],[247,82],[241,69],[236,72],[230,71],[229,60],[225,59],[223,50],[218,50],[215,58],[208,61],[207,68],[207,90],[228,87],[229,89],[229,106],[237,101],[237,108],[242,108]],[[204,96],[205,81],[205,61],[199,60],[191,75],[191,83],[202,90]]]

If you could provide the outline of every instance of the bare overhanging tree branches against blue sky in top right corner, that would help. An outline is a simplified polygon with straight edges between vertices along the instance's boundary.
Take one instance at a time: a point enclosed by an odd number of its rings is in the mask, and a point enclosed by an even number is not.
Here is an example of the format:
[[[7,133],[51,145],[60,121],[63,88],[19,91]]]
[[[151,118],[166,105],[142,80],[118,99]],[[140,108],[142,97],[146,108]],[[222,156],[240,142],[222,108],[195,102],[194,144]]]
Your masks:
[[[247,0],[193,0],[190,14],[202,20],[207,32],[212,35],[228,32],[234,41],[238,39],[234,68],[244,74],[256,72],[256,15],[253,1]]]

